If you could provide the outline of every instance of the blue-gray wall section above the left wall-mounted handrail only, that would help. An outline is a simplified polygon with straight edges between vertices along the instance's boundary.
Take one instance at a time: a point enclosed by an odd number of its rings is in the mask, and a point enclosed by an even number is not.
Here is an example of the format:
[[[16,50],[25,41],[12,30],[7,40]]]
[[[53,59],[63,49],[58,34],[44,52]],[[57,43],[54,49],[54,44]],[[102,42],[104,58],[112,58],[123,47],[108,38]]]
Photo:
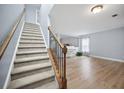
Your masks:
[[[5,39],[7,34],[11,31],[14,23],[18,16],[23,11],[24,5],[11,4],[4,5],[0,4],[0,45]]]

